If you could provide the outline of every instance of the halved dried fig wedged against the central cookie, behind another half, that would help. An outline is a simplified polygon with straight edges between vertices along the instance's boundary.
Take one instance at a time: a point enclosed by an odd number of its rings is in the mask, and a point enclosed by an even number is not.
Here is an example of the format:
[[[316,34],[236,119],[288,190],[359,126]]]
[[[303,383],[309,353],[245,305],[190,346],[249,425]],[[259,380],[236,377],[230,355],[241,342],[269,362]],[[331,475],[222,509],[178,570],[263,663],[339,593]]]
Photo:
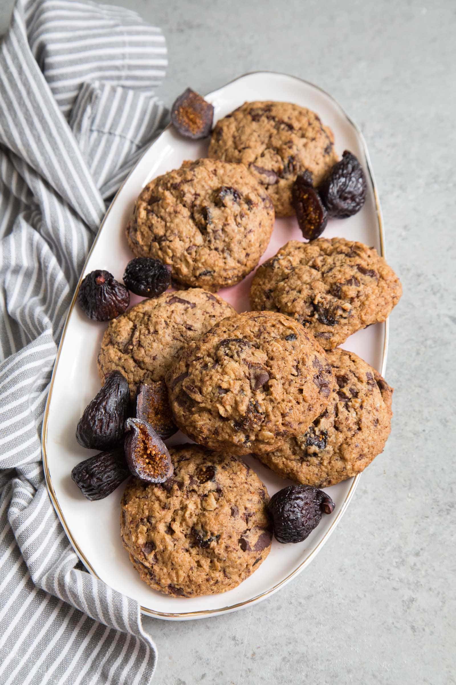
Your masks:
[[[142,383],[137,388],[136,418],[150,423],[155,432],[166,440],[177,430],[173,421],[164,380]]]

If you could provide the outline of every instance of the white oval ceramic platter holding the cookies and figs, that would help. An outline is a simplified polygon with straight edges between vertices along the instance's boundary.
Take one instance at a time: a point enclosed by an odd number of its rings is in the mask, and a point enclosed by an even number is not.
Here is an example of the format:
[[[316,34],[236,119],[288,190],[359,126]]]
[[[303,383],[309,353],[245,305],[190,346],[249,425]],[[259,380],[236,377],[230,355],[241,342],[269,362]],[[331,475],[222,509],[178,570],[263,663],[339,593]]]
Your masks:
[[[293,102],[317,112],[323,123],[334,132],[337,153],[342,155],[345,149],[349,149],[356,154],[368,179],[368,194],[362,210],[350,219],[330,221],[325,236],[360,240],[375,246],[379,253],[384,254],[381,210],[366,144],[358,127],[330,95],[296,77],[256,72],[241,76],[206,97],[215,107],[215,120],[243,102],[253,100]],[[204,157],[207,145],[207,140],[193,142],[178,136],[172,127],[165,129],[118,191],[96,236],[81,279],[94,269],[107,269],[117,279],[122,279],[124,267],[132,258],[126,245],[124,227],[140,190],[156,176],[176,169],[183,160]],[[276,221],[262,261],[291,239],[302,240],[296,220]],[[219,295],[230,301],[239,312],[247,310],[251,279],[252,275],[234,288],[221,290]],[[139,298],[133,296],[132,303],[136,301]],[[194,599],[157,593],[139,580],[120,542],[119,512],[123,487],[106,499],[89,502],[70,477],[73,466],[95,453],[78,445],[75,427],[85,406],[100,388],[96,356],[104,331],[104,324],[89,321],[81,314],[73,298],[57,353],[42,432],[44,472],[49,494],[83,564],[111,588],[137,600],[143,612],[162,619],[216,616],[252,606],[269,597],[303,571],[321,549],[347,508],[359,476],[327,488],[336,503],[334,513],[324,516],[317,529],[303,543],[280,545],[273,540],[271,553],[258,571],[234,590]],[[388,322],[377,324],[351,336],[344,347],[356,352],[384,373],[387,335]],[[185,442],[185,437],[180,434],[172,438],[172,442]],[[289,484],[289,481],[280,479],[254,458],[247,458],[246,461],[263,479],[269,495]],[[331,560],[328,558],[327,562],[330,564]]]

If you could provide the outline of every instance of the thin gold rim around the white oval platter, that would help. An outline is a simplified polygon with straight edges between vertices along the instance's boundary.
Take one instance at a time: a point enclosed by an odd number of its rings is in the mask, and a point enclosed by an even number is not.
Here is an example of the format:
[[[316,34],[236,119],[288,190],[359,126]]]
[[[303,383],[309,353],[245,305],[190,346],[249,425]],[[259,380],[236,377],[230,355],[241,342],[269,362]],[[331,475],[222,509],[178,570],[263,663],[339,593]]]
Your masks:
[[[309,81],[306,81],[305,79],[301,79],[301,78],[299,78],[299,77],[297,77],[297,76],[291,76],[291,75],[288,75],[288,74],[282,74],[282,73],[279,73],[279,72],[276,72],[276,71],[251,71],[251,72],[247,72],[247,73],[245,73],[245,74],[243,74],[243,75],[241,75],[241,76],[239,76],[239,77],[237,77],[237,78],[235,78],[235,79],[232,79],[232,81],[228,82],[227,84],[225,84],[225,85],[222,86],[221,88],[217,88],[217,90],[214,90],[213,92],[211,92],[211,93],[210,93],[208,96],[206,96],[206,97],[214,97],[214,96],[217,94],[218,90],[222,90],[223,88],[226,88],[226,86],[229,86],[230,84],[232,84],[232,83],[234,83],[234,82],[236,82],[236,81],[239,81],[239,79],[242,79],[242,78],[244,78],[245,76],[252,76],[252,75],[254,75],[254,74],[266,74],[266,73],[268,73],[268,74],[274,74],[274,75],[278,75],[278,76],[284,76],[284,77],[286,77],[286,78],[296,79],[297,81],[299,81],[299,82],[301,82],[301,83],[304,83],[304,84],[306,84],[307,86],[311,86],[312,88],[316,88],[317,90],[320,90],[320,91],[323,93],[323,95],[325,95],[326,97],[328,97],[330,100],[332,100],[333,103],[335,103],[335,104],[337,105],[338,109],[339,109],[340,112],[343,114],[343,116],[345,117],[345,119],[347,119],[347,121],[350,123],[350,125],[356,130],[356,133],[358,134],[358,136],[359,136],[359,138],[360,138],[360,141],[362,142],[362,148],[363,148],[363,151],[364,151],[364,158],[365,158],[366,167],[367,167],[367,170],[368,170],[368,177],[369,177],[369,179],[370,179],[371,188],[372,188],[372,190],[373,190],[374,198],[375,198],[375,208],[376,208],[376,210],[377,210],[377,222],[378,222],[379,238],[380,238],[380,253],[381,253],[381,256],[382,256],[382,257],[385,257],[383,217],[382,217],[382,215],[381,215],[381,208],[380,208],[379,197],[378,197],[378,193],[377,193],[377,187],[375,186],[375,180],[374,180],[374,177],[373,177],[373,171],[372,171],[372,167],[371,167],[371,160],[370,160],[370,158],[369,158],[369,153],[368,153],[368,149],[367,149],[367,146],[366,146],[366,141],[364,140],[364,136],[362,135],[362,133],[361,133],[360,129],[358,128],[358,126],[356,125],[356,123],[354,123],[354,122],[350,119],[350,117],[348,116],[348,114],[345,112],[345,110],[343,110],[342,106],[338,103],[338,101],[336,101],[336,99],[334,99],[334,97],[332,97],[332,95],[330,95],[330,94],[327,93],[325,90],[323,90],[323,88],[320,88],[319,86],[315,86],[314,84],[310,83]],[[170,127],[170,124],[167,125],[167,127],[164,129],[164,131],[166,131],[169,127]],[[162,132],[162,133],[163,133],[163,132]],[[155,140],[157,140],[157,138],[155,138]],[[155,140],[152,141],[152,143],[151,143],[150,145],[154,145]],[[149,149],[150,149],[150,146],[146,149],[146,151],[144,151],[144,154],[146,154],[146,153],[148,152]],[[138,160],[137,164],[138,164],[138,163],[139,163],[139,160]],[[133,173],[133,171],[134,171],[134,169],[136,168],[137,164],[135,164],[135,167],[132,169],[132,171],[131,171],[130,173]],[[100,236],[100,233],[101,233],[102,230],[103,230],[103,225],[105,224],[106,218],[107,218],[109,212],[111,212],[111,208],[113,207],[113,204],[116,202],[116,199],[117,199],[117,196],[118,196],[119,192],[122,190],[122,188],[124,187],[124,184],[125,184],[126,181],[129,179],[129,177],[130,177],[130,175],[129,175],[128,177],[126,177],[126,179],[124,179],[124,182],[122,183],[122,185],[120,186],[120,188],[119,188],[118,191],[116,192],[116,195],[113,197],[113,201],[111,202],[111,205],[109,206],[109,208],[108,208],[108,210],[107,210],[107,212],[106,212],[106,214],[105,214],[105,217],[104,217],[103,221],[101,222],[100,228],[98,229],[98,233],[96,234],[96,236],[95,236],[95,238],[94,238],[94,242],[92,243],[92,247],[90,248],[90,251],[89,251],[89,253],[88,253],[87,259],[85,260],[84,268],[83,268],[83,270],[82,270],[82,272],[81,272],[81,277],[79,278],[79,282],[78,282],[78,284],[77,284],[77,288],[76,288],[76,290],[75,290],[75,294],[74,294],[73,297],[72,297],[72,301],[71,301],[71,303],[70,303],[70,308],[69,308],[68,314],[67,314],[67,316],[66,316],[66,321],[65,321],[64,329],[63,329],[63,331],[62,331],[62,338],[60,338],[59,348],[57,349],[57,356],[55,357],[55,363],[54,363],[53,373],[52,373],[52,377],[51,377],[51,383],[50,383],[50,385],[49,385],[49,395],[48,395],[47,401],[46,401],[46,408],[45,408],[45,410],[44,410],[44,418],[43,418],[43,425],[42,425],[42,460],[43,460],[43,467],[44,467],[44,475],[45,475],[45,477],[46,477],[46,486],[47,486],[48,491],[49,491],[49,497],[51,497],[51,501],[52,501],[52,503],[53,503],[53,506],[54,506],[54,508],[55,508],[55,511],[57,512],[57,516],[59,516],[60,522],[62,523],[62,525],[63,525],[63,527],[64,527],[64,530],[65,530],[65,532],[66,532],[66,535],[68,536],[68,539],[70,540],[70,543],[72,544],[72,547],[75,549],[75,551],[76,551],[76,553],[77,553],[77,556],[79,556],[79,558],[80,558],[81,561],[83,562],[84,566],[90,571],[90,573],[92,573],[95,577],[97,577],[97,578],[100,579],[100,580],[101,580],[100,575],[96,572],[96,570],[94,569],[94,567],[92,566],[92,564],[90,564],[90,562],[88,561],[88,559],[85,558],[85,555],[84,555],[83,551],[81,550],[81,548],[80,548],[79,545],[77,544],[77,541],[75,540],[75,538],[73,538],[72,533],[70,532],[70,530],[69,530],[69,528],[68,528],[68,525],[66,524],[65,516],[64,516],[64,514],[63,514],[63,512],[62,512],[62,509],[60,508],[59,502],[58,502],[57,497],[56,497],[56,495],[55,495],[55,490],[54,490],[54,488],[53,488],[53,484],[52,484],[52,481],[51,481],[51,475],[50,475],[50,473],[49,473],[49,464],[48,464],[47,453],[46,453],[46,445],[47,445],[47,427],[48,427],[48,419],[49,419],[49,406],[50,406],[50,403],[51,403],[51,397],[52,397],[52,391],[53,391],[53,384],[54,384],[55,374],[56,374],[56,371],[57,371],[57,366],[58,366],[58,364],[59,364],[59,357],[60,357],[60,353],[61,353],[61,351],[62,351],[62,347],[63,347],[63,344],[64,344],[65,335],[66,335],[66,329],[67,329],[67,327],[68,327],[68,322],[70,321],[70,316],[71,316],[72,310],[73,310],[73,308],[74,308],[74,306],[75,306],[75,302],[76,302],[76,298],[77,298],[77,293],[78,293],[78,291],[79,291],[79,286],[81,285],[81,282],[82,282],[82,279],[83,279],[83,274],[85,273],[85,267],[86,267],[86,264],[88,263],[88,260],[90,259],[90,256],[92,255],[92,251],[94,250],[94,247],[95,247],[96,242],[97,242],[97,240],[98,240],[98,236]],[[386,322],[385,322],[384,347],[383,347],[383,356],[382,356],[382,360],[381,360],[381,369],[380,369],[380,373],[381,373],[381,375],[383,375],[383,376],[385,375],[385,370],[386,370],[386,356],[387,356],[387,354],[388,354],[388,337],[389,337],[389,321],[388,321],[388,319],[387,319]],[[289,573],[289,575],[287,575],[287,576],[286,576],[283,580],[281,580],[279,583],[276,583],[276,585],[274,585],[273,587],[269,588],[269,590],[267,590],[265,593],[260,593],[260,595],[256,595],[255,597],[251,597],[250,599],[247,599],[247,600],[245,600],[245,601],[241,601],[241,602],[236,603],[236,604],[231,604],[230,606],[224,606],[224,607],[218,608],[218,609],[206,609],[206,610],[200,610],[200,611],[190,611],[190,612],[171,613],[171,612],[155,611],[155,610],[152,610],[152,609],[148,609],[147,607],[141,606],[141,607],[140,607],[141,611],[142,611],[144,614],[148,614],[148,616],[156,616],[156,617],[158,617],[158,618],[166,618],[166,619],[189,619],[189,618],[191,618],[191,617],[196,617],[196,616],[211,616],[211,614],[222,614],[223,612],[233,611],[233,610],[235,610],[235,609],[240,608],[241,606],[247,606],[247,605],[249,605],[249,604],[256,603],[256,602],[260,601],[261,599],[265,599],[265,597],[268,597],[269,595],[272,595],[272,594],[275,593],[276,590],[278,590],[282,585],[284,585],[284,584],[286,584],[287,582],[289,582],[289,580],[291,580],[291,578],[293,578],[293,576],[297,575],[297,573],[299,573],[300,571],[302,571],[302,570],[304,569],[304,567],[305,567],[307,564],[310,563],[310,561],[312,560],[312,558],[314,558],[314,556],[317,555],[317,553],[319,552],[319,550],[321,549],[321,547],[323,547],[323,544],[326,542],[327,538],[329,538],[329,536],[332,534],[332,531],[333,531],[334,528],[336,527],[338,521],[340,520],[340,517],[341,517],[341,516],[343,515],[343,513],[345,512],[345,510],[346,510],[346,508],[347,508],[347,506],[348,506],[348,504],[349,504],[349,501],[351,500],[351,497],[353,497],[353,493],[355,492],[356,486],[358,485],[358,480],[360,479],[360,475],[361,475],[361,474],[358,473],[358,475],[356,475],[356,476],[353,478],[353,482],[352,482],[351,487],[350,487],[350,489],[349,489],[349,491],[348,491],[348,493],[347,493],[347,495],[346,495],[346,497],[345,497],[345,500],[343,501],[343,505],[342,505],[342,507],[340,508],[340,511],[338,512],[338,514],[337,514],[336,518],[334,519],[334,521],[332,521],[332,524],[331,524],[330,527],[328,528],[328,530],[327,530],[327,532],[325,533],[325,535],[323,536],[323,538],[321,538],[321,540],[319,541],[317,547],[314,547],[314,549],[312,549],[312,551],[308,554],[308,556],[306,556],[306,558],[304,559],[304,561],[302,561],[302,562],[294,569],[294,571],[291,571],[291,573]]]

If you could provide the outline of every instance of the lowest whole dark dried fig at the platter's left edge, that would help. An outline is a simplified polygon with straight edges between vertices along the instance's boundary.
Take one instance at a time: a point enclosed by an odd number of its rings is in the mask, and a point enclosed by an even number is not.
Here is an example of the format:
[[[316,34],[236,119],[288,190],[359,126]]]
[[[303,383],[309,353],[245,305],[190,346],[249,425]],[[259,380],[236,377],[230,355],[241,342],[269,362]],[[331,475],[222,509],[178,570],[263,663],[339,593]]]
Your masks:
[[[129,475],[123,449],[100,452],[79,462],[71,472],[81,493],[91,501],[111,495]]]

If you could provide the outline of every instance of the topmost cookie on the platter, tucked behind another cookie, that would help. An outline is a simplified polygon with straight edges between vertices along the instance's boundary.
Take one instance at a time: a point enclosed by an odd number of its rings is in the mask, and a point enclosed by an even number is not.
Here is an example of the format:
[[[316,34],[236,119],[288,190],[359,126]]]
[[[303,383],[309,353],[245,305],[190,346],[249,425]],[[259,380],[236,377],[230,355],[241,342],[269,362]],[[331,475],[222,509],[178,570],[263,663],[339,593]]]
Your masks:
[[[271,196],[277,216],[292,216],[291,186],[309,171],[314,186],[337,162],[332,131],[314,112],[288,102],[245,102],[213,130],[209,157],[243,162]]]

